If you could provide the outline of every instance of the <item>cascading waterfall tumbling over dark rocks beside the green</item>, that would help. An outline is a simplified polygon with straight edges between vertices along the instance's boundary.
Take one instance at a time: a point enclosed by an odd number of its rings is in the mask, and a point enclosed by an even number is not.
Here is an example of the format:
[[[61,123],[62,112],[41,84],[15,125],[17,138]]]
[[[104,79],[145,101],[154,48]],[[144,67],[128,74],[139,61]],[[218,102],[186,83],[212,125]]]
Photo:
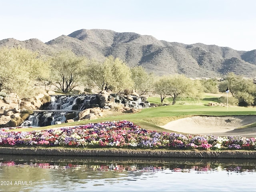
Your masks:
[[[149,102],[146,98],[138,96],[122,96],[111,94],[108,100],[116,103],[122,103],[130,108],[148,108]],[[66,122],[66,114],[74,114],[76,118],[78,113],[88,108],[100,106],[100,99],[96,94],[89,95],[53,95],[49,103],[44,104],[41,110],[34,111],[21,126],[48,126],[54,125],[56,121]]]

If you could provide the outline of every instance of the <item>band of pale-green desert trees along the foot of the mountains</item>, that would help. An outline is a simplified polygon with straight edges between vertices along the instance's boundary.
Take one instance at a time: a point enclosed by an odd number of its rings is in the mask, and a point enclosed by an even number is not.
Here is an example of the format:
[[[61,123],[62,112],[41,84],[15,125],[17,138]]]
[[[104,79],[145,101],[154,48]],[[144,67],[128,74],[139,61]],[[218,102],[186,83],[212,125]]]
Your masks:
[[[42,56],[25,48],[0,48],[0,97],[16,92],[20,97],[31,97],[38,84],[54,86],[62,93],[70,94],[78,86],[98,87],[112,92],[138,92],[158,94],[161,103],[167,97],[176,104],[177,98],[199,99],[203,92],[218,93],[230,90],[230,104],[254,106],[256,86],[252,79],[230,72],[222,80],[208,78],[190,79],[183,74],[156,76],[142,66],[128,67],[113,56],[104,60],[76,56],[65,50],[51,56]],[[222,98],[222,102],[226,98]]]

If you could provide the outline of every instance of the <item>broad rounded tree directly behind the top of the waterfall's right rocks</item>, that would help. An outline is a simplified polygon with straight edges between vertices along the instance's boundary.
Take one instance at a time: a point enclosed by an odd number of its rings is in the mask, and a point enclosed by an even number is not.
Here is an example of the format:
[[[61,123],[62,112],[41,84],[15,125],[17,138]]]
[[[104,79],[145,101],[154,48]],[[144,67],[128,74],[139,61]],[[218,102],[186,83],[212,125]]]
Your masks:
[[[91,60],[86,67],[86,77],[101,90],[123,90],[132,87],[130,68],[119,58],[108,56],[103,62]]]

